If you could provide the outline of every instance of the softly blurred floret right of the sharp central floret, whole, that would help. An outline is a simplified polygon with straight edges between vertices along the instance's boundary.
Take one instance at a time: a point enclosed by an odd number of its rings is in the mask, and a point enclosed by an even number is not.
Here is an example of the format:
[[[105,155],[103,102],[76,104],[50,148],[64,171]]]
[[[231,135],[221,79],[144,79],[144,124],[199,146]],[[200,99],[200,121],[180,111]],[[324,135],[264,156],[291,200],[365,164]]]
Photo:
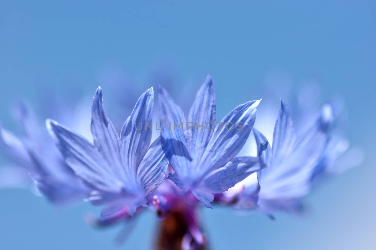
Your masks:
[[[331,123],[326,112],[300,136],[296,136],[288,106],[281,100],[274,126],[273,149],[266,137],[253,129],[258,156],[267,167],[257,172],[258,188],[255,191],[258,208],[267,214],[275,211],[297,211],[302,208],[299,198],[308,194],[311,176],[322,158],[328,135],[326,127]]]

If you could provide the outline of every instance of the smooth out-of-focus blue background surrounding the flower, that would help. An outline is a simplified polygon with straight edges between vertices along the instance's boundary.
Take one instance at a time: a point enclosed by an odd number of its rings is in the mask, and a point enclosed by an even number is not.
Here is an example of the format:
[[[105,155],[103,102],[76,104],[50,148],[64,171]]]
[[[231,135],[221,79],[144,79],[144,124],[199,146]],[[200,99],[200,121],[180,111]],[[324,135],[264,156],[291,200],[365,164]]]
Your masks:
[[[376,249],[375,31],[375,2],[363,0],[2,0],[0,116],[12,128],[11,102],[36,103],[41,91],[92,95],[101,72],[112,67],[150,86],[161,61],[177,72],[177,82],[200,84],[210,73],[218,117],[262,98],[274,70],[288,72],[296,85],[313,78],[325,97],[346,99],[347,133],[364,148],[364,163],[310,195],[303,217],[278,215],[273,222],[204,209],[212,248]],[[94,211],[88,204],[56,209],[22,190],[1,190],[0,200],[0,249],[110,249],[118,232],[87,226],[83,215]],[[155,216],[145,213],[123,248],[148,249],[155,225]]]

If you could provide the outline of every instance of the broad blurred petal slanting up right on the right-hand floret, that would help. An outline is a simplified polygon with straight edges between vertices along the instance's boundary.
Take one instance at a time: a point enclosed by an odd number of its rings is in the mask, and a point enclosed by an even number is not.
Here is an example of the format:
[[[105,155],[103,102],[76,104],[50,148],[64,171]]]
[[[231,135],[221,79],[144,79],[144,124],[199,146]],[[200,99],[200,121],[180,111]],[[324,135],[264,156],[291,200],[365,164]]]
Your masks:
[[[326,148],[328,137],[322,130],[321,117],[292,146],[285,160],[258,176],[261,186],[260,197],[265,199],[300,198],[310,191],[311,176]],[[274,149],[273,149],[274,153]]]

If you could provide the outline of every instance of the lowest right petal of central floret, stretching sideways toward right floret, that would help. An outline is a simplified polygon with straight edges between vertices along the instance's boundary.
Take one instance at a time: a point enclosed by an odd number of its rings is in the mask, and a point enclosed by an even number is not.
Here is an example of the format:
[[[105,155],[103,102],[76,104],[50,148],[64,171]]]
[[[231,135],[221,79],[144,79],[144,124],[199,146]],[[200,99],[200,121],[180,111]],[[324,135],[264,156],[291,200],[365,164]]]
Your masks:
[[[225,166],[206,177],[202,184],[212,193],[221,193],[259,169],[260,162],[257,157],[234,157]]]

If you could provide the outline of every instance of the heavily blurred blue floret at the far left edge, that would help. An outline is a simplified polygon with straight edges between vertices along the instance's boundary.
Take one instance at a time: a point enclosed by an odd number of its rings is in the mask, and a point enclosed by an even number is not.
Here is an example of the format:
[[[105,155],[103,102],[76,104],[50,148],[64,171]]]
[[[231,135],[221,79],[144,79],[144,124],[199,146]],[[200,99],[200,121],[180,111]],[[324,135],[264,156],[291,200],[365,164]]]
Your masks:
[[[12,162],[11,168],[2,168],[2,174],[8,179],[21,180],[13,183],[20,186],[30,186],[25,178],[29,175],[38,190],[53,204],[67,204],[84,198],[89,189],[64,162],[45,127],[39,125],[22,103],[15,107],[15,116],[24,135],[16,136],[0,127],[1,149]]]

